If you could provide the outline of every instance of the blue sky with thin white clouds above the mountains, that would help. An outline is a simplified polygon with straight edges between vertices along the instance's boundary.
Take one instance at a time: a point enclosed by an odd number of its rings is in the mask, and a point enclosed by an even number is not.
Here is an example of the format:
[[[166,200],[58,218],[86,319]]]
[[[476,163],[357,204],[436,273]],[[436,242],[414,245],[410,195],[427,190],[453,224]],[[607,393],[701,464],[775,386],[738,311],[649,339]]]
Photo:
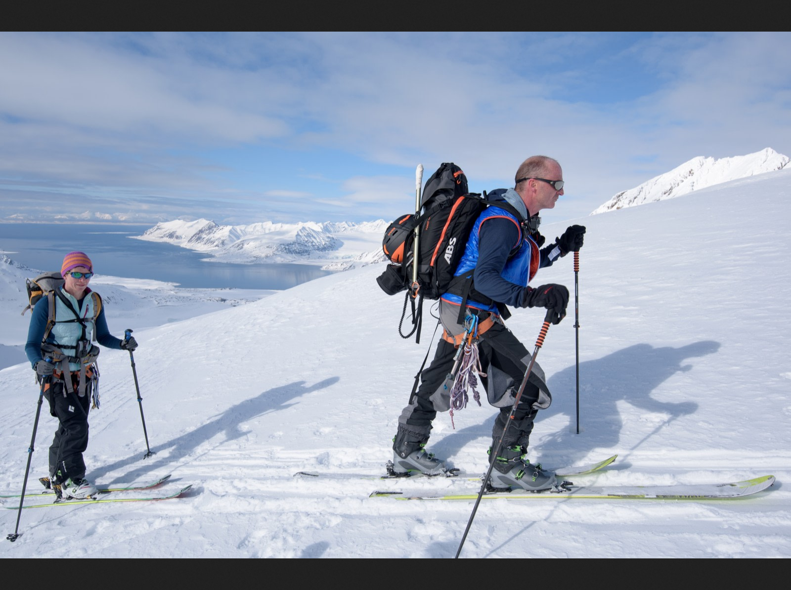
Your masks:
[[[391,220],[414,168],[544,220],[694,156],[791,155],[791,34],[0,33],[0,221]]]

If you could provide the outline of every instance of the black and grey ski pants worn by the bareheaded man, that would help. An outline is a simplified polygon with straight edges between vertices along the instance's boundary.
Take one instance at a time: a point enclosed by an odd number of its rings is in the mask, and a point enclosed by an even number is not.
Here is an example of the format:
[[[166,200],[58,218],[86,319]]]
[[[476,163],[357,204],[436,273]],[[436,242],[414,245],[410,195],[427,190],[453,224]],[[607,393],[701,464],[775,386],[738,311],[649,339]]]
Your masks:
[[[539,399],[539,386],[534,382],[533,375],[524,388],[514,419],[509,421],[508,417],[531,355],[517,336],[500,323],[495,323],[479,336],[478,350],[483,372],[486,373],[486,377],[480,376],[482,385],[489,403],[500,408],[492,428],[492,438],[499,438],[505,423],[510,422],[503,445],[520,444],[526,449],[533,430],[533,420],[538,413],[532,408],[532,404]],[[448,410],[447,402],[439,400],[435,393],[452,370],[455,355],[456,347],[446,340],[440,340],[433,361],[421,374],[418,391],[401,412],[399,430],[408,430],[415,438],[422,438],[424,443],[428,440],[437,409]],[[546,388],[543,381],[538,378],[535,380]]]

